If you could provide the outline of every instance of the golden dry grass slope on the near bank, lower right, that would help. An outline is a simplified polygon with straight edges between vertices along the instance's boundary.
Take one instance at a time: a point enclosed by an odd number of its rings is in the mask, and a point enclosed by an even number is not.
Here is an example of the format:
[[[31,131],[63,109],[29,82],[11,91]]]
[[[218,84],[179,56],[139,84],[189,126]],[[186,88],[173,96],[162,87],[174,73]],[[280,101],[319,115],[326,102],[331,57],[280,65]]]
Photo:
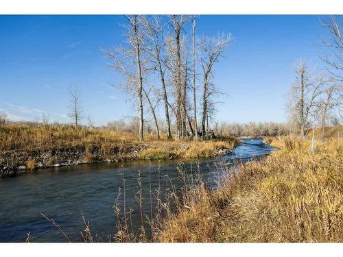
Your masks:
[[[188,191],[185,206],[163,221],[163,242],[343,241],[343,143],[270,139],[281,147],[214,192]]]

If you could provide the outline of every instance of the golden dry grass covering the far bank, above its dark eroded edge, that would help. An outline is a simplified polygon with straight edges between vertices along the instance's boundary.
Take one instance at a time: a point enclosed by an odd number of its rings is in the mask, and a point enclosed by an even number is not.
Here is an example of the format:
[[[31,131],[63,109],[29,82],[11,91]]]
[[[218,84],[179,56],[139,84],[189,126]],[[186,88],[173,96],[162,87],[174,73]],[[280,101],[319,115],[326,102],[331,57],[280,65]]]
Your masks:
[[[102,154],[102,158],[110,158],[113,152],[118,152],[124,159],[126,155],[129,159],[206,158],[217,155],[220,149],[233,148],[238,143],[237,139],[229,137],[215,142],[175,142],[167,138],[157,140],[154,135],[148,134],[145,134],[142,143],[133,133],[105,129],[75,129],[69,125],[0,126],[0,157],[1,152],[8,151],[34,152],[80,147],[84,149],[87,160],[96,157],[87,156],[94,149]]]

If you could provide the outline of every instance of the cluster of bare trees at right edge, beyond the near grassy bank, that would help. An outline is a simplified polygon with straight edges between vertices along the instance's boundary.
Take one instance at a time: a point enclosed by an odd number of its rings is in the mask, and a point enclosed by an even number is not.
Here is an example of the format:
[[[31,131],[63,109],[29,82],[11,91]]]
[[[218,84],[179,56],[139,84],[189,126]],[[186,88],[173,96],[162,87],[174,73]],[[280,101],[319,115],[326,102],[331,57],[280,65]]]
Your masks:
[[[306,60],[298,60],[294,66],[296,79],[289,93],[287,110],[290,121],[305,136],[309,127],[337,125],[342,121],[343,107],[343,39],[342,16],[330,16],[322,21],[329,38],[322,38],[328,53],[321,56],[327,68],[318,73]]]

